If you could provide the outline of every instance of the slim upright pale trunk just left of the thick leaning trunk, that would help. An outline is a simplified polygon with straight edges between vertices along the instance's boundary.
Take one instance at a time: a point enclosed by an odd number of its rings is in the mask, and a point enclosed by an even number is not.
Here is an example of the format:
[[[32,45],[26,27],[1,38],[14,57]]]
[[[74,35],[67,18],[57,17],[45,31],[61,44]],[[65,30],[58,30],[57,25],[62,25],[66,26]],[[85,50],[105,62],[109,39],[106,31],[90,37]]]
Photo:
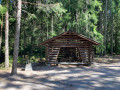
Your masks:
[[[9,9],[9,0],[6,0],[6,7]],[[9,68],[9,13],[5,15],[5,68]]]

